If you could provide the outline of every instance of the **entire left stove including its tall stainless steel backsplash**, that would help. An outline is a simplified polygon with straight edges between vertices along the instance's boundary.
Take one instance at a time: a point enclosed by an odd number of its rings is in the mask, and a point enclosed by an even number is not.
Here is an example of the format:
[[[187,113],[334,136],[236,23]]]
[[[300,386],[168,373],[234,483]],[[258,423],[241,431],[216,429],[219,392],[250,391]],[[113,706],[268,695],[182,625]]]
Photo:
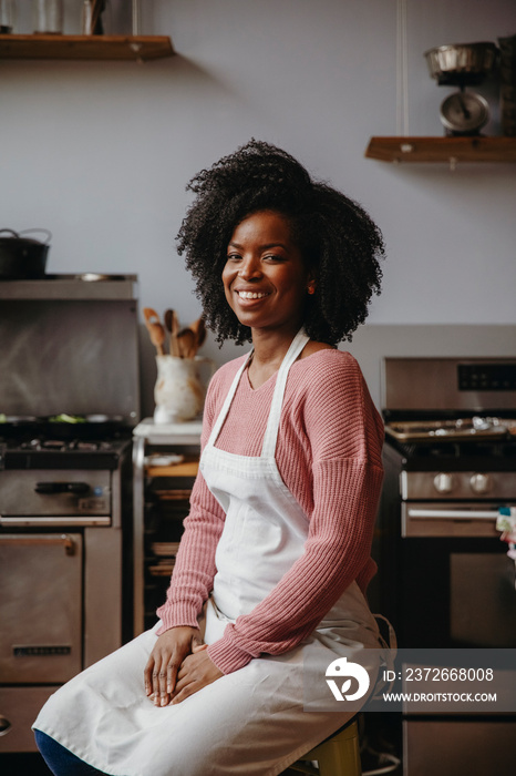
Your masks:
[[[134,280],[0,283],[0,753],[132,635]]]

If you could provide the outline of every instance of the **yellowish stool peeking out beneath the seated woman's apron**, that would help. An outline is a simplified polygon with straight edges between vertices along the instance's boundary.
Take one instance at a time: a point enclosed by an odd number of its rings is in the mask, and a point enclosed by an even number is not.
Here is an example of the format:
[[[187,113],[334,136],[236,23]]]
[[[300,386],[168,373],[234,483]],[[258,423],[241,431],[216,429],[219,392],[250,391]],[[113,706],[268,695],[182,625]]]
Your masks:
[[[310,765],[310,762],[305,762],[313,759],[319,763],[319,768]],[[289,767],[310,776],[362,776],[357,718],[353,717]]]

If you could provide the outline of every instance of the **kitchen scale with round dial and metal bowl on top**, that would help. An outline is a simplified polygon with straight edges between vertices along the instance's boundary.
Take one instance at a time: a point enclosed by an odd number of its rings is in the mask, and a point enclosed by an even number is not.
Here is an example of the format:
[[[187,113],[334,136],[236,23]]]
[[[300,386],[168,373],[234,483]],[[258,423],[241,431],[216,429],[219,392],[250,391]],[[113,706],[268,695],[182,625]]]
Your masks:
[[[441,103],[440,119],[448,136],[478,135],[489,121],[482,94],[466,88],[482,83],[493,70],[498,49],[494,43],[454,43],[425,52],[430,74],[440,86],[458,86]]]

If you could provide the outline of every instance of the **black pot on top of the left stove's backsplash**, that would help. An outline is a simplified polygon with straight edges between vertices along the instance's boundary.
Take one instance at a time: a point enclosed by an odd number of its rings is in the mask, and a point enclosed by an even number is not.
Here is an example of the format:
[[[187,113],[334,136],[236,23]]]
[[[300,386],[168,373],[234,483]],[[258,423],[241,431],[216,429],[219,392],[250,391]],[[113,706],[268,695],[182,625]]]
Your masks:
[[[28,232],[44,232],[47,243],[23,237]],[[4,236],[6,233],[10,236]],[[25,229],[20,234],[12,229],[0,229],[0,280],[32,280],[44,277],[51,236],[47,229]]]

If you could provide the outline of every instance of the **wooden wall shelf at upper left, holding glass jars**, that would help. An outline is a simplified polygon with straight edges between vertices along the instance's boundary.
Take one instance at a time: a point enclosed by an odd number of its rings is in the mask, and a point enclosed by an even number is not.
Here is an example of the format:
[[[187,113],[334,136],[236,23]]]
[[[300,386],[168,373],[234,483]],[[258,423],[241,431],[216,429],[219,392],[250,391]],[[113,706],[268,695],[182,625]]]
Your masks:
[[[167,35],[0,35],[0,59],[145,62],[174,53]]]

